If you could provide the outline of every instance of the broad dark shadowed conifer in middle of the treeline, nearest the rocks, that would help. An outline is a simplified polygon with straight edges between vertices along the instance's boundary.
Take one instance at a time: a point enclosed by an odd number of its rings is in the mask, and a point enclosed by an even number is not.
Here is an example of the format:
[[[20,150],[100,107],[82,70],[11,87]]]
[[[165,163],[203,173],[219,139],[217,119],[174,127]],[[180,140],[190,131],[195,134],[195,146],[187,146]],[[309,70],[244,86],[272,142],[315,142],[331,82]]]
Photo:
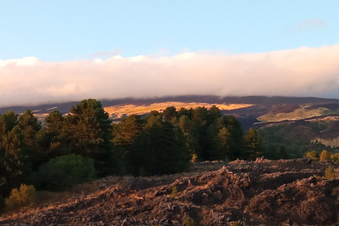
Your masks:
[[[160,121],[144,129],[127,155],[134,175],[161,175],[182,172],[191,156],[182,131],[170,121]]]

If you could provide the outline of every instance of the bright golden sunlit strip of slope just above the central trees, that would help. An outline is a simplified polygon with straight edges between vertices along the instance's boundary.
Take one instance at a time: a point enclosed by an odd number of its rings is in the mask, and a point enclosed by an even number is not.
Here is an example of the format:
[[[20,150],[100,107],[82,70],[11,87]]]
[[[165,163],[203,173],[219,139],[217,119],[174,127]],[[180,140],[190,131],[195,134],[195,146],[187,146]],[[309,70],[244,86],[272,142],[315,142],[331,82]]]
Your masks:
[[[129,116],[131,114],[148,114],[151,111],[162,112],[166,109],[166,107],[176,107],[180,109],[184,107],[186,109],[196,108],[196,107],[206,107],[210,108],[213,105],[218,107],[220,110],[232,110],[232,109],[240,109],[244,107],[251,107],[249,104],[209,104],[206,102],[159,102],[153,103],[150,105],[114,105],[111,107],[105,107],[105,111],[109,114],[111,119],[120,119],[124,116]]]

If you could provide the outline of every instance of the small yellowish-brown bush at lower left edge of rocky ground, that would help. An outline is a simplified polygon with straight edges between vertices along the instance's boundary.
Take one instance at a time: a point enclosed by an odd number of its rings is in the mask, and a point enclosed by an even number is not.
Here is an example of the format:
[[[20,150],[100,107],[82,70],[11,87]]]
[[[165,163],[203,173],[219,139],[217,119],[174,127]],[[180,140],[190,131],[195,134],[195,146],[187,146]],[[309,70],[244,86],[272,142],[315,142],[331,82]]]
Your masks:
[[[19,210],[25,206],[35,205],[35,187],[21,184],[20,189],[12,189],[11,195],[6,198],[8,210]]]

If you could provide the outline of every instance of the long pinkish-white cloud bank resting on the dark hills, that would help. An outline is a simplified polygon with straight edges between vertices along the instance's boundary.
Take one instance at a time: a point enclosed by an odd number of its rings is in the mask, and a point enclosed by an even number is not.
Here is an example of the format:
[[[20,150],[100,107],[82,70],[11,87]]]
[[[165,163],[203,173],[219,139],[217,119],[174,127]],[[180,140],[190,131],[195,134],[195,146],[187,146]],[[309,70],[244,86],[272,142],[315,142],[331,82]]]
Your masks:
[[[174,95],[339,97],[339,45],[260,54],[0,60],[0,106]]]

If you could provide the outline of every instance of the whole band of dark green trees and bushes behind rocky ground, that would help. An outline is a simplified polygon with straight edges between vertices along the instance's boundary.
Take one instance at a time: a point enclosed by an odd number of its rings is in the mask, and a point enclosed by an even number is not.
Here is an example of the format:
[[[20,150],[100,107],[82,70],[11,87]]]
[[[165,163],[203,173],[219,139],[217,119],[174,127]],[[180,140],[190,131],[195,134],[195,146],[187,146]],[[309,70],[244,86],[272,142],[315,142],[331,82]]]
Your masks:
[[[254,160],[258,133],[245,134],[233,116],[218,107],[131,115],[112,124],[99,101],[83,100],[70,113],[53,110],[42,127],[28,109],[0,114],[0,195],[20,184],[60,191],[74,183],[111,174],[182,172],[190,162]]]

